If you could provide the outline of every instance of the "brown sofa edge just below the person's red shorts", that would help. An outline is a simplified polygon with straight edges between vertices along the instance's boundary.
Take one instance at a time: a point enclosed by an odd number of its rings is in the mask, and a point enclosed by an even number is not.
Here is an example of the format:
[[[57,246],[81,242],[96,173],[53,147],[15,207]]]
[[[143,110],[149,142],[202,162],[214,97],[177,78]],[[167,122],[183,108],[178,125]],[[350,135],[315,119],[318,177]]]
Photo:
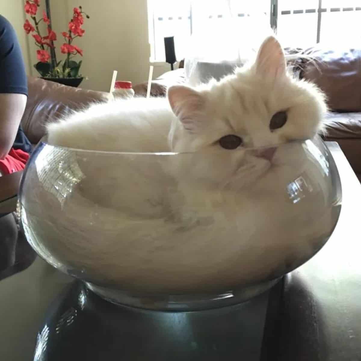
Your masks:
[[[0,215],[16,210],[17,195],[23,171],[0,177]]]

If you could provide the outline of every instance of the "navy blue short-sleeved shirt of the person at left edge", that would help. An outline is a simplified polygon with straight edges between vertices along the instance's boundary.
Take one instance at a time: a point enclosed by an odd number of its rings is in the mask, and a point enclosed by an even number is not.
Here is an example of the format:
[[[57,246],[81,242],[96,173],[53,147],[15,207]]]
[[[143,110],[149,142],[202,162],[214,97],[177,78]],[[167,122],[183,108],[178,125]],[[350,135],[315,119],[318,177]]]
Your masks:
[[[0,93],[27,93],[27,77],[21,48],[12,25],[0,15]],[[14,149],[31,152],[31,144],[21,126],[18,129]]]

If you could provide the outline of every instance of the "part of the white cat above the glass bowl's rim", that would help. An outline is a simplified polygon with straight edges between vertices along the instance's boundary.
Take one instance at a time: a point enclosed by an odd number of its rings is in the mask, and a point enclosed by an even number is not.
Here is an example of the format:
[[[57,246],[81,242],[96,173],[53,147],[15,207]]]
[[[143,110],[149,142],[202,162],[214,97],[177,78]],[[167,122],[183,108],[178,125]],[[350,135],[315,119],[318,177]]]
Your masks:
[[[97,104],[48,125],[50,144],[118,152],[189,152],[219,148],[225,135],[243,147],[312,138],[326,111],[323,93],[287,75],[280,44],[261,45],[256,61],[197,89],[169,88],[167,99],[120,100]],[[270,129],[283,112],[284,124]],[[282,118],[282,116],[281,116]],[[226,152],[232,158],[232,152]]]

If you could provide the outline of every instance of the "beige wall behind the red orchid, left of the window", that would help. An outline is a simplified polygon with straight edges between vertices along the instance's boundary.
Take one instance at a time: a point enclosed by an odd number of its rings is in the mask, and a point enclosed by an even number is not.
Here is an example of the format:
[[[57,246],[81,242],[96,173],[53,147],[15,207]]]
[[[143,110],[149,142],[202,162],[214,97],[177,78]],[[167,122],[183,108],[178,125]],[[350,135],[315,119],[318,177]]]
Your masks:
[[[0,13],[15,27],[27,70],[32,71],[33,64],[37,62],[36,48],[32,38],[28,39],[22,28],[25,21],[24,1],[0,0],[0,3]],[[82,83],[82,87],[108,91],[113,70],[118,71],[118,80],[132,81],[134,84],[147,81],[150,55],[147,0],[52,0],[53,28],[60,40],[56,42],[58,60],[65,58],[60,53],[61,32],[67,30],[73,8],[79,4],[91,17],[85,19],[83,38],[74,41],[84,50],[81,73],[89,78]],[[80,59],[80,56],[74,58],[77,61]],[[156,67],[153,77],[168,68]],[[33,74],[37,75],[35,69]]]

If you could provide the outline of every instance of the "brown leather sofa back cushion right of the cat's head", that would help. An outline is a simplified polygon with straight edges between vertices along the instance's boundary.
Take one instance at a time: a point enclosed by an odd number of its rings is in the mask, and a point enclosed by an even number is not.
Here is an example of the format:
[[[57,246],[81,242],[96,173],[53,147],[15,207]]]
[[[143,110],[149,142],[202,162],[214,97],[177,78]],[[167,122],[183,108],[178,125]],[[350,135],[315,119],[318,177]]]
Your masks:
[[[314,47],[304,52],[314,58],[301,77],[317,84],[328,98],[330,109],[361,111],[361,50]]]

